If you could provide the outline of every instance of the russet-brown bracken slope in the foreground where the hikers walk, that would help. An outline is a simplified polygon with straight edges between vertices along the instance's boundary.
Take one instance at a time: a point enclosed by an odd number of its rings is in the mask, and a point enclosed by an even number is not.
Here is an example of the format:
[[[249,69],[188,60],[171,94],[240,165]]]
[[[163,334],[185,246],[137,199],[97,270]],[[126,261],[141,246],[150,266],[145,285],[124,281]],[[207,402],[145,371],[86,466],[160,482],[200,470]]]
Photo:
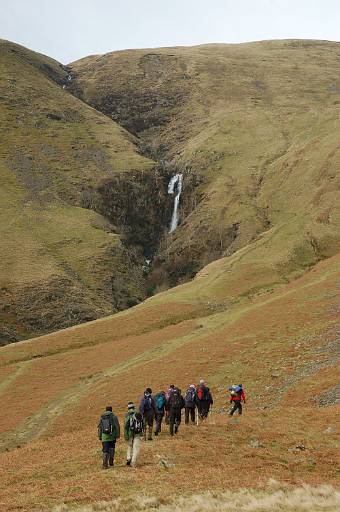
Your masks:
[[[215,264],[212,281],[223,263]],[[292,487],[338,486],[339,263],[333,257],[224,309],[194,300],[201,277],[127,312],[3,347],[5,510],[118,498],[112,507],[119,509],[137,496],[151,510],[178,495],[209,490],[218,498],[234,487],[234,475],[242,475],[242,488],[264,490],[273,478]],[[184,389],[202,375],[215,399],[208,423],[182,425],[176,439],[165,432],[143,446],[137,472],[124,467],[120,441],[116,468],[103,474],[96,438],[103,407],[113,403],[122,420],[127,401],[137,401],[145,386],[176,382]],[[226,386],[240,380],[248,404],[241,420],[228,420]],[[203,486],[193,474],[205,475]]]

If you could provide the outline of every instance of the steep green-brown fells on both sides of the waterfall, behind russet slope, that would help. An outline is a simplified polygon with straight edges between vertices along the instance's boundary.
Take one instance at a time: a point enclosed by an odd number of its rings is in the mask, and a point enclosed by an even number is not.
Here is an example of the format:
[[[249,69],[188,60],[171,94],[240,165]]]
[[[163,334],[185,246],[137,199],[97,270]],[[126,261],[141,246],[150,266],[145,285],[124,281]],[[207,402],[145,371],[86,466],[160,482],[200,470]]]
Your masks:
[[[64,68],[3,42],[1,59],[3,342],[124,309],[223,256],[223,300],[237,301],[337,253],[338,44],[124,51]]]

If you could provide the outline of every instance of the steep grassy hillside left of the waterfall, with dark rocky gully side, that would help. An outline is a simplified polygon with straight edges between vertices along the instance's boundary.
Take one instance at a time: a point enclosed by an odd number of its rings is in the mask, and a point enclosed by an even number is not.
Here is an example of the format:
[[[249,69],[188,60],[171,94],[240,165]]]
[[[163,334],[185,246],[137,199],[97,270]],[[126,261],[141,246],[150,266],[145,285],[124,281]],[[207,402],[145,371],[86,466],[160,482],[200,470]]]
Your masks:
[[[1,344],[142,300],[165,184],[59,63],[2,41],[0,66]]]

